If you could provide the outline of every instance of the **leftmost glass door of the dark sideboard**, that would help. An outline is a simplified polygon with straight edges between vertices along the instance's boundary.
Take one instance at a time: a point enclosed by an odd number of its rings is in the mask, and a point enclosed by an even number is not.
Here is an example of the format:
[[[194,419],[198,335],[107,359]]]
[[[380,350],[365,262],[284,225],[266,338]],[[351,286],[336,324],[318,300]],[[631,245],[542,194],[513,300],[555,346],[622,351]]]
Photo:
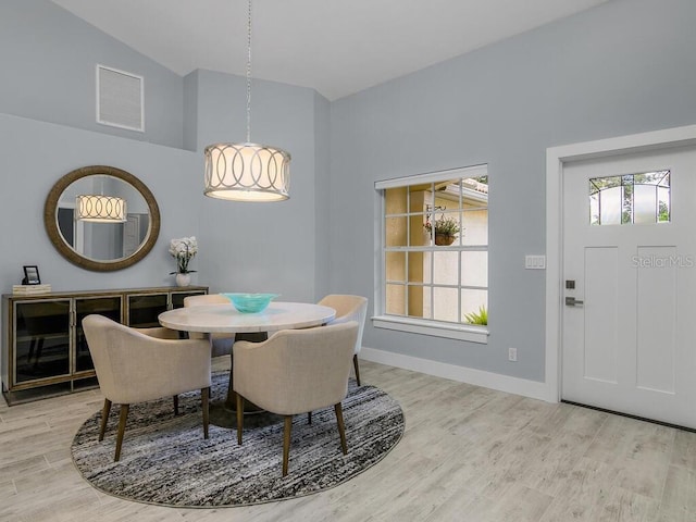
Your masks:
[[[70,299],[15,303],[15,383],[69,375]]]

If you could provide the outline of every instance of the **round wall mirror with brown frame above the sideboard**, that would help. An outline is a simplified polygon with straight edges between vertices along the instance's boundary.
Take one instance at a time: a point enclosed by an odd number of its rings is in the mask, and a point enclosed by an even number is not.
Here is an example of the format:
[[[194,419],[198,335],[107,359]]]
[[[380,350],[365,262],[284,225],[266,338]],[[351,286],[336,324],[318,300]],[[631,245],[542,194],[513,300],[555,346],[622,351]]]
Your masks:
[[[130,266],[154,246],[160,209],[150,189],[114,166],[84,166],[61,177],[46,198],[46,232],[83,269]]]

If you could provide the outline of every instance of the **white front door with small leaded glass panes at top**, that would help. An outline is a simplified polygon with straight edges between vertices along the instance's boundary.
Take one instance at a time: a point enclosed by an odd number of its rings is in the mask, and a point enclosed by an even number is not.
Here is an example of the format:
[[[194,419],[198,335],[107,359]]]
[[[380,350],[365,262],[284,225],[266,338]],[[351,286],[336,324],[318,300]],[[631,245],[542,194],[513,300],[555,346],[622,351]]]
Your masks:
[[[696,149],[564,164],[562,274],[561,398],[696,427]]]

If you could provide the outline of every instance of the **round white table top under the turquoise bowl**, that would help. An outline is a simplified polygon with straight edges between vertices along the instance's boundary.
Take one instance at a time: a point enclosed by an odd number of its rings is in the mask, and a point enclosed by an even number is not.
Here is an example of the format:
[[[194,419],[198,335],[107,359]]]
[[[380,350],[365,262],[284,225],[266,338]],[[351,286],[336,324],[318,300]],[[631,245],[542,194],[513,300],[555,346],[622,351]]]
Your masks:
[[[332,321],[336,310],[306,302],[271,302],[259,313],[240,313],[228,304],[177,308],[160,313],[162,326],[200,333],[251,333],[307,328]]]

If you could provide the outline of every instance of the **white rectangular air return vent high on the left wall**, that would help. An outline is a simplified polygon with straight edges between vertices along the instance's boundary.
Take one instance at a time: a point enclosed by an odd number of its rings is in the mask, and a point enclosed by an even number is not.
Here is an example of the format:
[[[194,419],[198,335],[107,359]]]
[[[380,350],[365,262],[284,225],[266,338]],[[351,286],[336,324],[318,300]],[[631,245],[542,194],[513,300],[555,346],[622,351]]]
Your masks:
[[[145,132],[142,76],[97,65],[97,123]]]

